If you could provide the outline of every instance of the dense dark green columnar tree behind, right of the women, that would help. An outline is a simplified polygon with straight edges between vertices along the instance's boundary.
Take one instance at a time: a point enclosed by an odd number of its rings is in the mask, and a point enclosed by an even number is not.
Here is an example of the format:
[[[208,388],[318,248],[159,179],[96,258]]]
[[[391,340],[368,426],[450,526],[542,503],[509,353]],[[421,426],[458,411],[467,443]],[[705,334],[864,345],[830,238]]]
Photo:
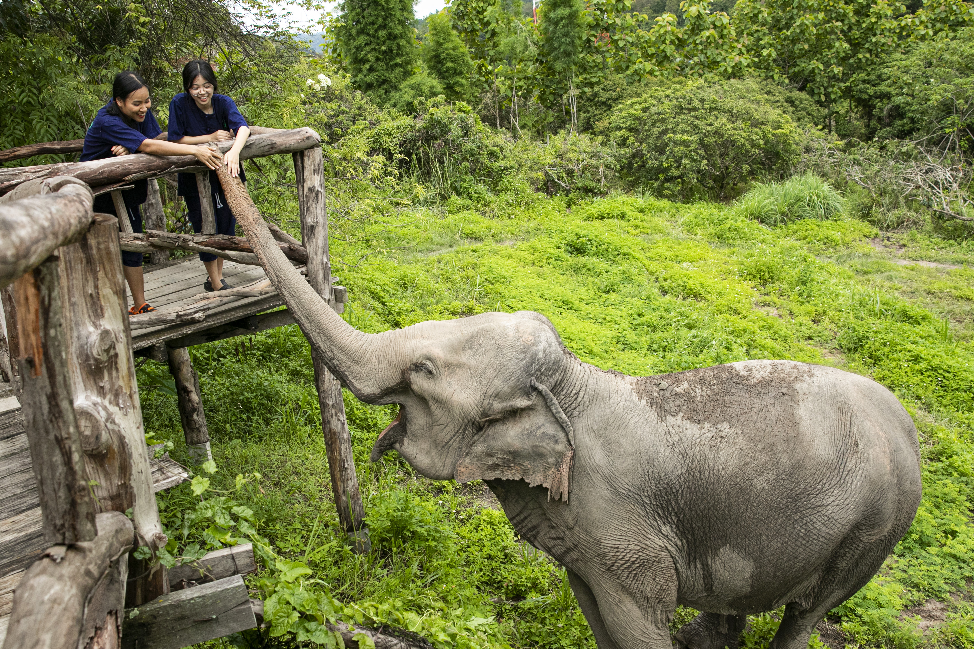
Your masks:
[[[345,0],[340,19],[335,36],[353,83],[385,101],[416,60],[412,0]]]

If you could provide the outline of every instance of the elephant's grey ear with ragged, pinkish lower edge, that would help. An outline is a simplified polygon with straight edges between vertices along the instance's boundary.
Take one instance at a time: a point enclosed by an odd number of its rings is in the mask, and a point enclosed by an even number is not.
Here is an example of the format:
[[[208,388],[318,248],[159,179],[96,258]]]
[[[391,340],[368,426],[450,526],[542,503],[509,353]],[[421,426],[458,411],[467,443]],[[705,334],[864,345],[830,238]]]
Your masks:
[[[575,456],[572,424],[541,383],[531,379],[543,399],[491,421],[457,463],[457,482],[524,480],[548,489],[568,502],[569,476]]]

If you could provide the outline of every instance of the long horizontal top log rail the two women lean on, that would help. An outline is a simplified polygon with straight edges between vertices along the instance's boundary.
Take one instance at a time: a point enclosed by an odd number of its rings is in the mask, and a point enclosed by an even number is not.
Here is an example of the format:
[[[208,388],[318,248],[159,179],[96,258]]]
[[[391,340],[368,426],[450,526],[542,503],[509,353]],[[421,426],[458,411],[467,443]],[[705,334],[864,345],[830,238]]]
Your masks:
[[[263,158],[275,154],[294,153],[320,146],[318,133],[308,127],[282,130],[247,139],[241,151],[241,160]],[[217,146],[226,153],[233,141],[220,142]],[[202,146],[202,145],[201,145]],[[193,156],[149,156],[132,154],[89,162],[59,162],[0,169],[0,195],[10,192],[20,183],[35,178],[74,176],[91,187],[119,182],[131,183],[143,178],[160,178],[176,171],[201,171],[200,163]]]

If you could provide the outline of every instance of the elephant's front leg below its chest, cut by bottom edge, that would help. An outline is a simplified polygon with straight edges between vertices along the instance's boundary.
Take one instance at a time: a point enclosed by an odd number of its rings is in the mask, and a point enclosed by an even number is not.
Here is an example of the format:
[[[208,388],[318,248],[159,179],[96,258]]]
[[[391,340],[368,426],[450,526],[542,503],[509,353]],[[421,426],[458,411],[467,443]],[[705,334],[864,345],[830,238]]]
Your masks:
[[[672,649],[669,623],[676,609],[677,581],[668,559],[665,567],[656,563],[652,575],[640,574],[631,584],[618,583],[614,574],[598,567],[584,577],[568,570],[599,649]]]

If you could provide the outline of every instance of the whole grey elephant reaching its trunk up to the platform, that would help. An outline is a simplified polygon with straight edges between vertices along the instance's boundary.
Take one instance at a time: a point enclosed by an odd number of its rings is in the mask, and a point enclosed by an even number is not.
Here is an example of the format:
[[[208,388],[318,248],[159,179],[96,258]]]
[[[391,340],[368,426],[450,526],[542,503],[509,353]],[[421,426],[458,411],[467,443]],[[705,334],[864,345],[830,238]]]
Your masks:
[[[736,647],[746,615],[784,605],[771,646],[805,649],[916,515],[917,429],[871,379],[771,360],[629,377],[581,362],[532,311],[366,334],[224,182],[326,367],[359,400],[398,404],[372,459],[484,481],[565,567],[599,649],[668,649],[678,604],[700,611],[678,646]]]

